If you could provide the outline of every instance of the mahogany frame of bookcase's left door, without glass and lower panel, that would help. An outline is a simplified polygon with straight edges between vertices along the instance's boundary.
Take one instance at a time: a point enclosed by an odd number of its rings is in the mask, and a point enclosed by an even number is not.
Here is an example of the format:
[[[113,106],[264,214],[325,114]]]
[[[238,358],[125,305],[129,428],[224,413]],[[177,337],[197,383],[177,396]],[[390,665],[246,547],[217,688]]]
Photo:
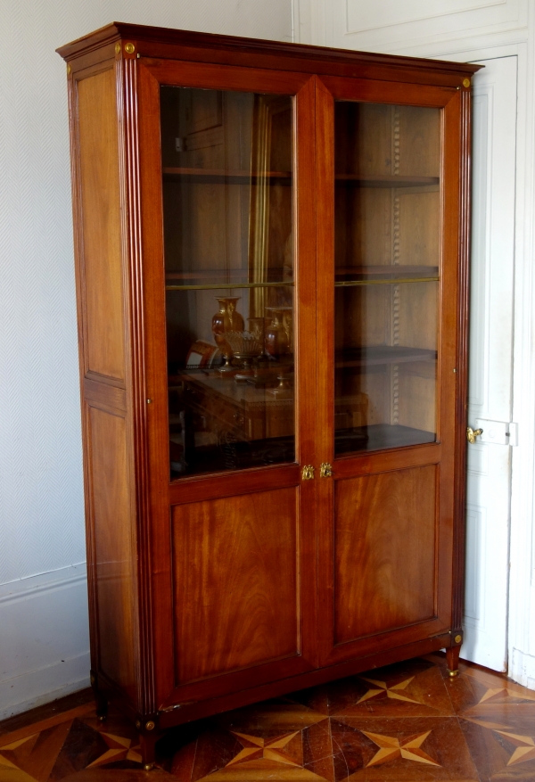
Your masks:
[[[316,482],[302,481],[300,467],[315,462],[315,220],[314,81],[308,74],[235,65],[159,61],[138,63],[138,154],[144,264],[144,378],[147,408],[150,514],[152,655],[156,702],[161,710],[177,703],[225,696],[237,690],[285,679],[317,667],[316,652]],[[160,86],[294,95],[294,214],[296,343],[296,463],[179,478],[169,482],[164,247],[162,235]],[[298,197],[299,193],[299,197]],[[155,218],[156,214],[156,218]],[[158,218],[160,215],[160,218]],[[253,663],[194,682],[178,683],[174,638],[172,506],[207,502],[262,490],[292,488],[297,500],[296,654]]]

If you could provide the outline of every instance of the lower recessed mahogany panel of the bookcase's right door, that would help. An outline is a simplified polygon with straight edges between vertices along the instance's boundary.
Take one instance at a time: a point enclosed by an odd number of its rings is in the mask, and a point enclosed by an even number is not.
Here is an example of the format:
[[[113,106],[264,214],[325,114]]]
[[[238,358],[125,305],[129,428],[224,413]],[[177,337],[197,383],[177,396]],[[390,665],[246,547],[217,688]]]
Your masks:
[[[436,612],[436,465],[336,482],[336,644]]]

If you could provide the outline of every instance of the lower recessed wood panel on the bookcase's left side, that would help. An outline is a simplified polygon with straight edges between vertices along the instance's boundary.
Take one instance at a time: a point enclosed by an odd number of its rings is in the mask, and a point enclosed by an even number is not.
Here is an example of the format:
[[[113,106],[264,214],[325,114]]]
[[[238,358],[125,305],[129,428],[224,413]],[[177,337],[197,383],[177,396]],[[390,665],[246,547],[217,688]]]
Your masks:
[[[89,407],[98,670],[136,702],[135,540],[128,497],[127,425]]]

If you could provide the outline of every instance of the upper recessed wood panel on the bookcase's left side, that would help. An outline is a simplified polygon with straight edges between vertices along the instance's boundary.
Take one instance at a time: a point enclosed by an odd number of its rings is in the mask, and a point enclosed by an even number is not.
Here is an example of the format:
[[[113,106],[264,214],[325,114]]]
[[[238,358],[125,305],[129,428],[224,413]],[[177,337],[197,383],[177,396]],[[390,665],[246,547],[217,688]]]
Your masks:
[[[114,70],[78,82],[85,370],[123,380],[119,128]]]

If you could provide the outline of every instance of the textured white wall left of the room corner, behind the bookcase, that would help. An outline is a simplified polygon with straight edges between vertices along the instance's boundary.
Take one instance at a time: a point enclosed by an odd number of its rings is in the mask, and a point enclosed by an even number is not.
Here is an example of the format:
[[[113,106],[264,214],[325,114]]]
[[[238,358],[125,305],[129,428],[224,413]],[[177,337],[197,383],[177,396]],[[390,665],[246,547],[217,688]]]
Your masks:
[[[0,0],[0,719],[88,685],[65,63],[110,21],[292,39],[291,0]]]

